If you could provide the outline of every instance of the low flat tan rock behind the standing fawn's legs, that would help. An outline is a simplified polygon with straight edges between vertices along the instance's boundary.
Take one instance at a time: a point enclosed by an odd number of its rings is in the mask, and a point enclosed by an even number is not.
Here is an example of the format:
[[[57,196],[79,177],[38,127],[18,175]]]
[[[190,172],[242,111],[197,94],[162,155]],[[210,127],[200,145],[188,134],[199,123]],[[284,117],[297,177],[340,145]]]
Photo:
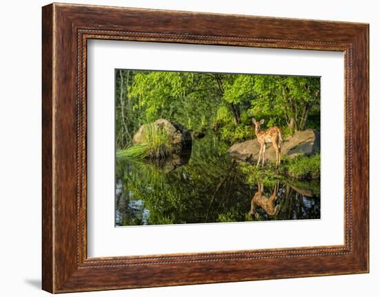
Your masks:
[[[260,144],[257,139],[251,139],[242,143],[235,143],[227,152],[232,158],[242,161],[258,161]],[[312,155],[320,152],[320,132],[316,130],[304,130],[295,132],[281,143],[282,156],[294,158],[296,156]],[[276,153],[271,143],[266,145],[265,161],[276,161]]]

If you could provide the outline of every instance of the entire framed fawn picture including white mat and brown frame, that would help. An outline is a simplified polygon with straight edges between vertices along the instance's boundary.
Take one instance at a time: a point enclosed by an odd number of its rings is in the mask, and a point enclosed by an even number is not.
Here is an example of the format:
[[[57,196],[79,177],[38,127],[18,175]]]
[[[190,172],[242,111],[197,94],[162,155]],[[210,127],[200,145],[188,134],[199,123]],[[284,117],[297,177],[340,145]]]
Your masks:
[[[42,21],[43,289],[369,272],[369,25]]]

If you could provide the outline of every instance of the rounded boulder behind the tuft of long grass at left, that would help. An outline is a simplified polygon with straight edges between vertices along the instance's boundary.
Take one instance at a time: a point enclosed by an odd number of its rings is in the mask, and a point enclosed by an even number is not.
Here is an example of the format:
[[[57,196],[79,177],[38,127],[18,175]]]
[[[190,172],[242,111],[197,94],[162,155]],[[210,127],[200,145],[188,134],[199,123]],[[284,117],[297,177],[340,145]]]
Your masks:
[[[158,119],[153,124],[158,129],[167,131],[168,141],[174,153],[178,154],[183,150],[190,150],[192,148],[191,132],[189,132],[183,125],[174,121],[167,121],[166,119]],[[133,136],[133,143],[145,142],[143,134],[146,129],[146,125],[141,125],[141,127],[139,127],[139,130]]]

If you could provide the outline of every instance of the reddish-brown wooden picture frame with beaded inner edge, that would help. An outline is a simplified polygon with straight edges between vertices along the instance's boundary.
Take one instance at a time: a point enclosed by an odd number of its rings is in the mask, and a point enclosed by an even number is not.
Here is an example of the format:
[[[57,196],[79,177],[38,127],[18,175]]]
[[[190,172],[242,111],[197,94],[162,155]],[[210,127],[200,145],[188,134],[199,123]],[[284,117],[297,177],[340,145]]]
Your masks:
[[[50,4],[42,18],[42,287],[52,293],[369,272],[369,25]],[[328,50],[345,57],[345,244],[87,256],[87,41]]]

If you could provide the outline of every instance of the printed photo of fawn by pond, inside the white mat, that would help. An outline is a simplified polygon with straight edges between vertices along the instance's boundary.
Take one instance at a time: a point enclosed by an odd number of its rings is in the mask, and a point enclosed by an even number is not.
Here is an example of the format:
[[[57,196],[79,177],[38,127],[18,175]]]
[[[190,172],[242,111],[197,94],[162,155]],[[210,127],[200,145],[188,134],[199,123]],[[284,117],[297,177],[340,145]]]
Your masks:
[[[115,225],[320,218],[320,77],[115,70]]]

